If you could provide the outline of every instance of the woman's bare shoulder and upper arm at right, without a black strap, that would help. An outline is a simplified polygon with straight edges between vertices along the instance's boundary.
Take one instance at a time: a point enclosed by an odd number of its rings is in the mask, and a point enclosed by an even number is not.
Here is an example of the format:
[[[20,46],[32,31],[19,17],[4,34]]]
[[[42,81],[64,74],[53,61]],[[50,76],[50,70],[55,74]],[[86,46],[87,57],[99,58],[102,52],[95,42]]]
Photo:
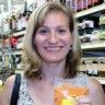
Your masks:
[[[92,98],[92,105],[105,105],[105,93],[102,84],[94,78],[89,78],[89,95]]]

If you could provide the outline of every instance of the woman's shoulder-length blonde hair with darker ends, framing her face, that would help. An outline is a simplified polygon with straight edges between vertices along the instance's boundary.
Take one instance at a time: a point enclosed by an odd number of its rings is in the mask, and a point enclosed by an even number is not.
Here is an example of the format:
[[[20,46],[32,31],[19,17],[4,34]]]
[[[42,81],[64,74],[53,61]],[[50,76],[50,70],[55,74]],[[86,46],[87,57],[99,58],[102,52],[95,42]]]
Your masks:
[[[74,18],[70,8],[59,2],[48,2],[42,7],[38,7],[33,11],[30,16],[26,34],[24,36],[23,47],[23,69],[26,78],[40,78],[40,59],[35,45],[33,44],[34,36],[37,30],[44,24],[46,15],[51,11],[58,11],[65,13],[69,19],[70,32],[73,35],[72,49],[67,55],[66,74],[65,78],[72,78],[77,74],[78,66],[80,62],[80,44],[78,33],[74,26]]]

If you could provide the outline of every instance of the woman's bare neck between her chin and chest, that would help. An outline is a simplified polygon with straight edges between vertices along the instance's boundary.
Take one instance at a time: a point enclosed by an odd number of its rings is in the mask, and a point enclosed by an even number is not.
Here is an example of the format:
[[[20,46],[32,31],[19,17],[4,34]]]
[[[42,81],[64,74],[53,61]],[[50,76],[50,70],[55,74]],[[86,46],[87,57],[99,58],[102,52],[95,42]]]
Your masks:
[[[47,81],[54,81],[55,78],[62,78],[66,69],[66,61],[48,63],[43,62],[42,65],[42,77]]]

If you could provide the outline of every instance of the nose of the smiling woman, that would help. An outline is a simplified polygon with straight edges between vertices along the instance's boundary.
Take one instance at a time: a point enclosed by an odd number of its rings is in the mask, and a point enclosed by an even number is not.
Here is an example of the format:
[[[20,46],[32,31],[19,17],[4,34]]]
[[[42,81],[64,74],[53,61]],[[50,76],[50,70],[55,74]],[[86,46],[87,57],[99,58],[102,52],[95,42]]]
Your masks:
[[[55,31],[51,31],[50,34],[49,34],[49,37],[48,37],[48,42],[51,43],[51,44],[56,44],[58,43],[58,35]]]

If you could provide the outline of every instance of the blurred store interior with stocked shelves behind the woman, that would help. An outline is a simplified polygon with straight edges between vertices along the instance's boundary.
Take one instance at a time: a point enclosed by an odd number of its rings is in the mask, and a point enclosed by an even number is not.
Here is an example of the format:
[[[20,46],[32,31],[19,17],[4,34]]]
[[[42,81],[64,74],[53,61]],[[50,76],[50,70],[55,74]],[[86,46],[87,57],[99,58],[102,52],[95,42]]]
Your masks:
[[[60,1],[74,11],[83,57],[79,72],[96,78],[105,90],[105,0],[0,0],[0,85],[22,72],[22,42],[36,7]]]

